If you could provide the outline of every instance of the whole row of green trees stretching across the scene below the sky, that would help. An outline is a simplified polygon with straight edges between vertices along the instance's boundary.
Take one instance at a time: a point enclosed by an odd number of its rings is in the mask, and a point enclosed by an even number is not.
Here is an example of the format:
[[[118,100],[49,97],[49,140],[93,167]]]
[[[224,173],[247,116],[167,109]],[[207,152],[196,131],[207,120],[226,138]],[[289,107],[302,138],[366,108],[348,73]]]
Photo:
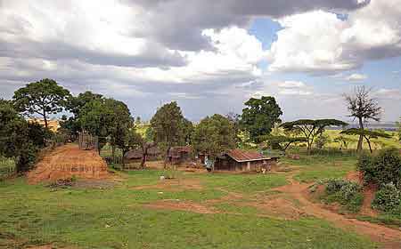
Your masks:
[[[362,151],[363,140],[370,145],[373,137],[388,136],[364,128],[369,119],[380,120],[381,114],[381,108],[370,97],[368,89],[356,88],[356,92],[346,95],[345,100],[349,116],[356,118],[360,127],[342,133],[359,136],[358,151]],[[217,157],[243,142],[239,134],[254,144],[265,144],[283,153],[293,143],[307,143],[310,153],[326,127],[347,125],[337,119],[299,119],[282,123],[282,109],[271,96],[250,98],[244,105],[241,115],[215,114],[194,125],[184,117],[176,101],[172,101],[158,108],[143,136],[136,127],[139,117],[135,122],[124,102],[95,92],[81,92],[73,96],[54,80],[45,78],[15,91],[12,100],[0,101],[0,155],[18,158],[18,171],[28,170],[35,161],[37,151],[44,148],[45,141],[54,135],[48,130],[48,117],[61,111],[70,112],[70,116],[61,117],[59,133],[70,140],[76,139],[81,131],[91,133],[99,138],[99,150],[110,143],[113,155],[116,149],[121,149],[123,153],[141,149],[142,166],[148,149],[155,146],[164,151],[165,161],[172,147],[189,144],[197,152]],[[41,116],[45,127],[29,123],[24,118],[32,115]],[[283,133],[272,133],[276,127],[281,128]]]

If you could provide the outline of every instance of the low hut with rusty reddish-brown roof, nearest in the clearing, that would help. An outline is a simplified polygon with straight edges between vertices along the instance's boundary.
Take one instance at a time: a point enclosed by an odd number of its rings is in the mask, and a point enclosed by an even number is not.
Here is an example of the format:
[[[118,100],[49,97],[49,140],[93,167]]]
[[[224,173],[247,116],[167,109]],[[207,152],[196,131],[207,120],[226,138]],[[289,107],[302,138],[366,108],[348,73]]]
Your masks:
[[[255,150],[231,149],[216,158],[215,171],[261,172],[275,165],[278,157],[265,157]]]

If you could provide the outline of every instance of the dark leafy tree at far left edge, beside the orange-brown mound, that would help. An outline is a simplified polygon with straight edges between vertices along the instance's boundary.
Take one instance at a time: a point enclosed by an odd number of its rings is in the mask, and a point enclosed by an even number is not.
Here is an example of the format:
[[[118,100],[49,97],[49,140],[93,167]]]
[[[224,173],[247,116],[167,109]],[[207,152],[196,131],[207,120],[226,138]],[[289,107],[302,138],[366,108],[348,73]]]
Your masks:
[[[34,164],[38,149],[45,147],[45,134],[42,126],[20,116],[10,101],[0,100],[0,155],[15,157],[18,173]]]

